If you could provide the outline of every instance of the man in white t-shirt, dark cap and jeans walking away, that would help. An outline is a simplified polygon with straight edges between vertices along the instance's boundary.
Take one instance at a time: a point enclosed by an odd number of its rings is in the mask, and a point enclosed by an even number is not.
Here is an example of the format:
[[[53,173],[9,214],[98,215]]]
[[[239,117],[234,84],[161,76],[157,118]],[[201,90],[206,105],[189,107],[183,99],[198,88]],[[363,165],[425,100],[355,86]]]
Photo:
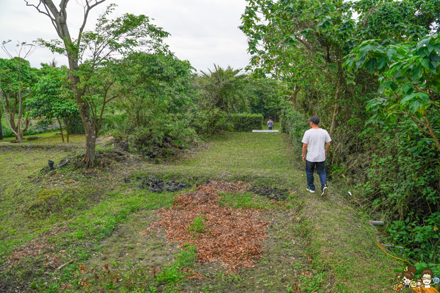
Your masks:
[[[311,129],[304,133],[303,137],[303,162],[306,163],[306,175],[308,191],[314,193],[313,171],[316,167],[316,173],[321,181],[321,196],[327,196],[329,188],[327,187],[326,158],[330,148],[331,138],[327,130],[319,128],[319,118],[312,116],[307,120]],[[324,147],[325,146],[325,147]],[[306,157],[307,150],[307,157]]]

